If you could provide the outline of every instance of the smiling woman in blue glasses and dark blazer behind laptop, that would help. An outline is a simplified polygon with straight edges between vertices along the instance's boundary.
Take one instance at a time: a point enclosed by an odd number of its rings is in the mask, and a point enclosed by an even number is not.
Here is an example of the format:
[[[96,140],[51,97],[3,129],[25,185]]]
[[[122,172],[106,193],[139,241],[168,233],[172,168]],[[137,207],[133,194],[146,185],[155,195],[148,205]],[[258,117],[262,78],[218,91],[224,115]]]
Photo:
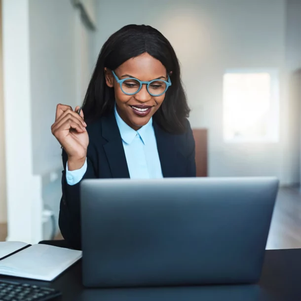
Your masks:
[[[128,25],[105,42],[82,110],[58,105],[51,127],[63,148],[59,226],[72,247],[80,249],[82,179],[195,177],[188,113],[177,56],[161,33]]]

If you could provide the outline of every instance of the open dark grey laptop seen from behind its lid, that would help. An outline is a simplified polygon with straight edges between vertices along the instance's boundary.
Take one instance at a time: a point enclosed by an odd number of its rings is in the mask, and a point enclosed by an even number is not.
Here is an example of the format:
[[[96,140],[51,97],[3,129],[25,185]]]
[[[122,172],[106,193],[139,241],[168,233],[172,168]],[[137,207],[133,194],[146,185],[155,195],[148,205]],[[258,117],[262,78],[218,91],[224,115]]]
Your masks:
[[[258,282],[275,178],[81,183],[86,287]]]

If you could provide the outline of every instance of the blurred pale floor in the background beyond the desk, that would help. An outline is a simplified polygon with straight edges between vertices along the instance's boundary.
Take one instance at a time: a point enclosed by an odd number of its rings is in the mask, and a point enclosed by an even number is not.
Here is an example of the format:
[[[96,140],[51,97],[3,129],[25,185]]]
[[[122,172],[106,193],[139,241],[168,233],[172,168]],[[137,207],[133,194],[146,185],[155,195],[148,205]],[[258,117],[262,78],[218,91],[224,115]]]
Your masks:
[[[0,241],[6,238],[6,225],[0,224]],[[61,234],[56,239],[62,239]],[[266,249],[301,248],[301,192],[281,188],[278,193]]]

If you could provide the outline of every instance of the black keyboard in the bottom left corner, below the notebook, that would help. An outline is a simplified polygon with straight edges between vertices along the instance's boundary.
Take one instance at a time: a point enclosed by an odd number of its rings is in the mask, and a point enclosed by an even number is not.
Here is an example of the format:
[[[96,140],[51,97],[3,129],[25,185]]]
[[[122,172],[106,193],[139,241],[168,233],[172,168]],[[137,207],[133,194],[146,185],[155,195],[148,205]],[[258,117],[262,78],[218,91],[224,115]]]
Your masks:
[[[0,280],[0,301],[46,301],[61,295],[47,287]]]

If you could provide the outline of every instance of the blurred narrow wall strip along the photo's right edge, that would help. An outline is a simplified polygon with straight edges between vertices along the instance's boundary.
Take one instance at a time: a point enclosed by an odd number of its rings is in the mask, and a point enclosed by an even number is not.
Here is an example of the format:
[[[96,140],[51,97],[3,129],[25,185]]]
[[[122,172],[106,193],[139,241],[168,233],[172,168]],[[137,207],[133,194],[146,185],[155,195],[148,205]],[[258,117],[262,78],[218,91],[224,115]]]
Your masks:
[[[291,170],[292,182],[300,182],[301,141],[301,1],[287,1],[286,67],[288,78],[287,103],[287,169]]]

